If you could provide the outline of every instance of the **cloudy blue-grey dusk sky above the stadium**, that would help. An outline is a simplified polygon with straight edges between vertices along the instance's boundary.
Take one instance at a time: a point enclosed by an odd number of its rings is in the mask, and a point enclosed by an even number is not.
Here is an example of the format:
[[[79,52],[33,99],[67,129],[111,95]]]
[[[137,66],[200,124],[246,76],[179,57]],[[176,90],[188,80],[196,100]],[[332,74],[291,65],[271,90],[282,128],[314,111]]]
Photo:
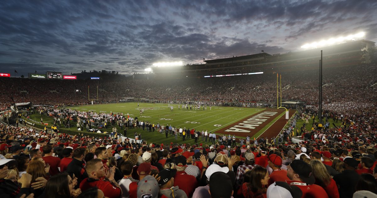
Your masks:
[[[132,74],[360,31],[377,41],[376,10],[375,0],[3,0],[0,72]]]

